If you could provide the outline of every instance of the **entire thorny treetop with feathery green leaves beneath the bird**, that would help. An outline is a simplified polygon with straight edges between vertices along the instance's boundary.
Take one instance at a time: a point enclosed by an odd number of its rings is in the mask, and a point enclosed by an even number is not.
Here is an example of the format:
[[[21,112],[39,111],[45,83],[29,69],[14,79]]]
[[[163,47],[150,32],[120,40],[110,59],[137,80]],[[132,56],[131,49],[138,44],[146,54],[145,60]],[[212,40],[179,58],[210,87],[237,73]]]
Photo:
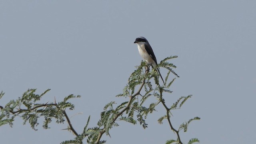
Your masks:
[[[170,111],[181,108],[186,100],[192,96],[182,96],[170,107],[166,105],[164,100],[165,95],[170,96],[172,94],[170,86],[173,84],[176,77],[179,77],[173,70],[176,66],[168,62],[177,57],[178,56],[167,57],[156,66],[158,69],[165,68],[168,71],[164,78],[165,82],[163,86],[159,84],[158,72],[154,68],[150,70],[150,65],[142,61],[140,66],[136,66],[136,70],[134,70],[128,78],[128,83],[122,93],[117,95],[117,97],[128,98],[129,100],[119,105],[114,101],[106,104],[103,111],[100,113],[100,120],[98,120],[97,126],[89,127],[89,116],[85,123],[86,126],[84,126],[81,133],[77,133],[76,130],[74,130],[65,111],[74,110],[75,106],[69,102],[69,100],[72,98],[80,98],[81,96],[70,94],[60,102],[41,103],[40,99],[49,92],[50,89],[44,91],[42,94],[36,94],[36,89],[28,89],[17,100],[10,100],[4,107],[0,106],[0,126],[4,124],[12,126],[16,116],[20,116],[24,120],[23,124],[29,123],[34,130],[37,130],[36,127],[39,125],[38,119],[40,118],[44,119],[42,126],[45,129],[50,128],[49,124],[53,120],[55,120],[56,123],[64,123],[64,121],[67,121],[68,128],[66,130],[72,131],[75,134],[75,138],[73,140],[63,141],[61,144],[82,144],[85,139],[88,144],[104,144],[106,140],[101,140],[102,135],[106,134],[110,136],[111,128],[119,126],[118,121],[129,122],[131,124],[139,123],[143,128],[147,128],[148,124],[146,123],[146,119],[148,114],[155,112],[158,104],[163,104],[164,108],[166,108],[166,114],[158,119],[158,123],[163,124],[164,120],[167,119],[171,129],[177,134],[177,140],[167,140],[166,144],[182,144],[178,132],[182,129],[186,132],[188,124],[200,118],[195,117],[188,120],[188,122],[184,122],[180,125],[178,130],[174,129],[170,124]],[[171,78],[173,75],[170,74],[173,74],[174,78]],[[169,81],[170,78],[171,81]],[[0,98],[2,98],[3,95],[4,93],[1,92]],[[150,101],[152,98],[156,99],[156,101]],[[199,140],[192,138],[188,144],[194,142],[199,142]]]

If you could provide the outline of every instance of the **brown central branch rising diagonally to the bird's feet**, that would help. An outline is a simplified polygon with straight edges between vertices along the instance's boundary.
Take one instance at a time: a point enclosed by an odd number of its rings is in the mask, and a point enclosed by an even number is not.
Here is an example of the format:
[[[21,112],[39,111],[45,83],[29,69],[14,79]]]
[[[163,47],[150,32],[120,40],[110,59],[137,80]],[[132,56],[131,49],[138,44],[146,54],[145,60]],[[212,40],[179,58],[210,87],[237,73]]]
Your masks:
[[[145,69],[146,69],[145,74],[148,74],[148,72],[149,72],[148,66],[146,66]],[[116,116],[114,117],[112,123],[114,123],[114,122],[116,121],[116,119],[117,119],[121,114],[123,114],[126,110],[128,110],[128,108],[130,108],[130,104],[131,104],[131,102],[132,102],[132,99],[133,99],[135,96],[137,96],[137,95],[140,94],[140,91],[142,90],[142,88],[143,88],[143,86],[144,86],[144,84],[145,84],[145,81],[146,81],[146,78],[144,78],[142,84],[140,85],[139,90],[138,90],[133,96],[130,97],[130,100],[129,100],[127,106],[126,106],[121,112],[119,112],[118,114],[116,114]],[[105,130],[105,128],[103,128],[102,131],[100,132],[98,138],[97,138],[96,143],[100,142],[100,138],[102,137],[102,135],[103,135],[105,132],[106,132],[106,130]]]

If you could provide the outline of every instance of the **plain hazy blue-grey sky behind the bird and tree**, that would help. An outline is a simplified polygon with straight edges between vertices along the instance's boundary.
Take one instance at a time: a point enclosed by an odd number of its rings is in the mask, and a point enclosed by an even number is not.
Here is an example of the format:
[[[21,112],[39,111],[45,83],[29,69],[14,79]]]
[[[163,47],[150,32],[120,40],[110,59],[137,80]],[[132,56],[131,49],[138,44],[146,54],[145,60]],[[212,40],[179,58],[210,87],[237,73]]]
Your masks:
[[[193,94],[182,109],[172,112],[175,128],[199,116],[180,132],[187,143],[252,144],[256,136],[256,1],[255,0],[0,0],[0,100],[4,106],[28,88],[40,94],[52,89],[42,102],[62,100],[69,94],[75,110],[68,111],[81,133],[91,115],[96,126],[100,112],[116,98],[142,58],[134,40],[144,36],[158,62],[171,62],[180,75],[166,101]],[[162,75],[166,75],[162,70]],[[172,75],[172,78],[174,76]],[[107,144],[164,144],[176,139],[165,114],[157,107],[146,119],[148,128],[120,122],[110,130]],[[0,127],[2,144],[58,144],[74,138],[55,120],[34,131],[16,118],[13,128]],[[86,141],[84,141],[86,143]]]

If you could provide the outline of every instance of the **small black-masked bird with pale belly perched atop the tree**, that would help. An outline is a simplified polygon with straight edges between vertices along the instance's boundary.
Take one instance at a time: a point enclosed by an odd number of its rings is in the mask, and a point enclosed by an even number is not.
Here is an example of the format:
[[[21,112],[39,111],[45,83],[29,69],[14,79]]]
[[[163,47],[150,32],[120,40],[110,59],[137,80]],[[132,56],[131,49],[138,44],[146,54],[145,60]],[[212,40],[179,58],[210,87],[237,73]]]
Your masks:
[[[164,82],[164,79],[162,78],[160,71],[158,68],[156,68],[157,61],[156,61],[156,56],[146,38],[143,36],[140,36],[136,38],[134,44],[138,45],[138,50],[140,53],[140,56],[148,63],[150,64],[154,69],[156,69]]]

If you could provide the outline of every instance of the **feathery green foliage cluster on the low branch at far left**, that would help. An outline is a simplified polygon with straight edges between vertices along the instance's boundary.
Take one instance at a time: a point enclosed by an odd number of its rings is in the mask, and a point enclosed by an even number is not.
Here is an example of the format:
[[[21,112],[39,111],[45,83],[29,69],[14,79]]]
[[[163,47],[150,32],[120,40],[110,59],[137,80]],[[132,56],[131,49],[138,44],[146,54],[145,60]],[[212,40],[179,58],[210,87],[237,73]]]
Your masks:
[[[74,104],[67,102],[67,100],[70,98],[80,98],[80,96],[69,95],[64,98],[64,101],[58,102],[58,104],[39,103],[42,96],[49,91],[50,89],[42,94],[36,94],[36,89],[28,89],[17,100],[10,100],[1,110],[0,125],[9,124],[12,126],[16,116],[20,116],[24,120],[23,124],[28,122],[34,130],[37,130],[38,118],[41,117],[44,117],[42,126],[45,129],[49,128],[48,124],[52,122],[52,118],[56,119],[56,123],[63,123],[65,121],[63,113],[65,108],[74,109]],[[2,95],[3,93],[0,94],[0,97]]]

